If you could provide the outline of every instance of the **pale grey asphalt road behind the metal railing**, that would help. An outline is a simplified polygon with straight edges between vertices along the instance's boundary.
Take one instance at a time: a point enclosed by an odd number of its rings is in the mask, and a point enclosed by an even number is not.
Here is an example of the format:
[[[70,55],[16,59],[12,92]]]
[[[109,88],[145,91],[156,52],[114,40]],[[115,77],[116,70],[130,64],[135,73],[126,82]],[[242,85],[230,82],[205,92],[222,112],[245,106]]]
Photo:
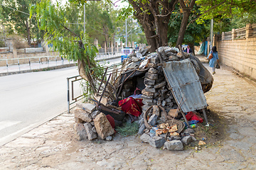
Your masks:
[[[69,67],[0,77],[0,146],[67,111],[67,77],[76,75]]]

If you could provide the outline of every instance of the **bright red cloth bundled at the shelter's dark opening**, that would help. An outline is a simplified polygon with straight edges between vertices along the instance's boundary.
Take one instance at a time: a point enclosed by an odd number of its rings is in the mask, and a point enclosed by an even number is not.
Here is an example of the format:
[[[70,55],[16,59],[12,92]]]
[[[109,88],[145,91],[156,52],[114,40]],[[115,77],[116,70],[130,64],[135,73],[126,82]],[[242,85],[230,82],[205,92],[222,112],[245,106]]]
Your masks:
[[[122,107],[122,111],[127,114],[131,114],[134,116],[139,116],[142,114],[142,99],[139,98],[124,98],[124,100],[119,101],[118,105]]]

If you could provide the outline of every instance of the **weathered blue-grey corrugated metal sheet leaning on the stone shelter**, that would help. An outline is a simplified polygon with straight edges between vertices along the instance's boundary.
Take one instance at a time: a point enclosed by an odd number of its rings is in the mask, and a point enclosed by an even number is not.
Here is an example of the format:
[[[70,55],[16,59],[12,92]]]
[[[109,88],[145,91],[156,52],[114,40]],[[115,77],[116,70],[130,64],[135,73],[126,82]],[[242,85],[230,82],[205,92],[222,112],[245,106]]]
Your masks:
[[[174,93],[176,102],[181,105],[181,110],[196,111],[206,108],[206,96],[203,94],[201,83],[196,74],[191,60],[166,62],[164,74]]]

